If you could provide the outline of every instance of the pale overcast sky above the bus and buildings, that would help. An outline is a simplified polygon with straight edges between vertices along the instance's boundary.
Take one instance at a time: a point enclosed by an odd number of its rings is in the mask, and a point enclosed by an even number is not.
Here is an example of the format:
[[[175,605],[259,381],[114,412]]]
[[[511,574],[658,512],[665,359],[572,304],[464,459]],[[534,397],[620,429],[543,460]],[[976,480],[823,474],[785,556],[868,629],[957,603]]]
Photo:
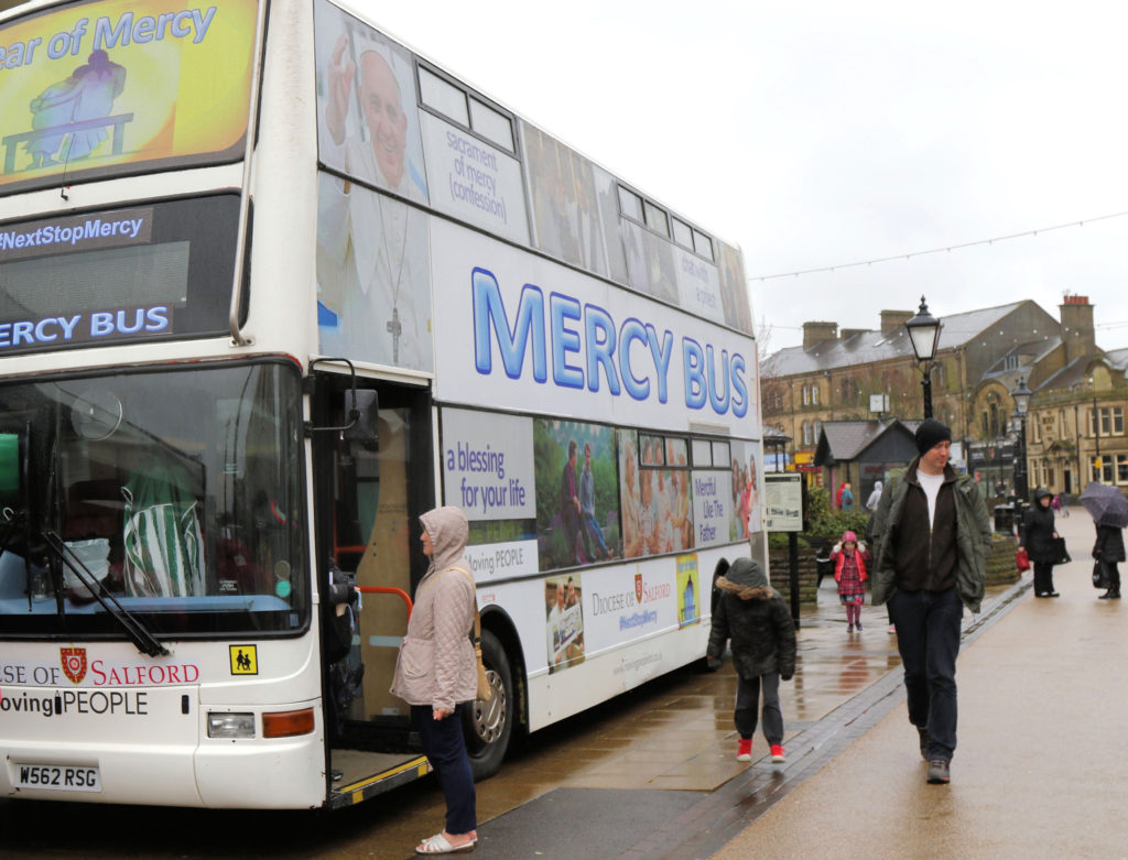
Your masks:
[[[1066,292],[1128,347],[1128,3],[351,2],[740,245],[768,352]]]

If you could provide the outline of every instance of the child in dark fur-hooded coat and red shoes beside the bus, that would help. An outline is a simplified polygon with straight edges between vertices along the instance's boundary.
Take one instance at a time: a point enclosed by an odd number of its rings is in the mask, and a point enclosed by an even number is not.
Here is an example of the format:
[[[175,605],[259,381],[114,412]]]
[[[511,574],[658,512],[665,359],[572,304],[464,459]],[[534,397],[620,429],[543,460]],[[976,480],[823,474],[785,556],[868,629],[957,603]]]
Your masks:
[[[787,604],[769,584],[758,564],[738,558],[725,576],[716,579],[722,592],[713,613],[713,629],[706,656],[720,659],[725,640],[732,640],[732,663],[737,670],[737,761],[752,757],[756,711],[764,694],[764,737],[773,762],[783,762],[783,711],[779,681],[795,674],[795,626]]]

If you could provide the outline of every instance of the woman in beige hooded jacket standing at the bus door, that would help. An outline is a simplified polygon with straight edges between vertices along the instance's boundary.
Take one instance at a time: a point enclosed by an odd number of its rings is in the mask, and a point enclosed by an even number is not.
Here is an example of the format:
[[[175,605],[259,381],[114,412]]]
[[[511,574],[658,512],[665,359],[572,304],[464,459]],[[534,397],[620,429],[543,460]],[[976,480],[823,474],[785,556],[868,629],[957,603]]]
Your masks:
[[[457,707],[477,694],[470,644],[477,594],[462,558],[469,525],[457,507],[420,517],[423,552],[431,566],[415,589],[415,605],[396,662],[391,692],[412,706],[423,752],[447,799],[447,827],[423,840],[420,854],[472,851],[477,843],[474,775]]]

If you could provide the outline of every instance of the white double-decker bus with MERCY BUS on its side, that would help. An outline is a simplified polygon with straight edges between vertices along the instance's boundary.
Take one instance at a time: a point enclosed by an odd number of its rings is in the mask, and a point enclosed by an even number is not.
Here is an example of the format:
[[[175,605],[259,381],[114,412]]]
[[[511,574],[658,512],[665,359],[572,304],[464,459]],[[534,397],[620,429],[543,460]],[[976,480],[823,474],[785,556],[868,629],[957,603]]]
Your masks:
[[[388,686],[439,504],[476,775],[703,657],[765,555],[735,247],[329,0],[28,3],[0,105],[5,796],[425,774]]]

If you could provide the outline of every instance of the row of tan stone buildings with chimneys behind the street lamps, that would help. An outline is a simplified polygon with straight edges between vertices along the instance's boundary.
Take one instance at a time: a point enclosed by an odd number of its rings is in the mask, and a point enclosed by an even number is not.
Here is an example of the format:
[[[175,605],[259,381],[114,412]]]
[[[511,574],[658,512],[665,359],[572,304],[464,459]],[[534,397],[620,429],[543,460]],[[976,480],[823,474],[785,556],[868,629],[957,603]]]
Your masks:
[[[880,328],[872,330],[807,322],[801,347],[767,358],[764,419],[792,437],[797,462],[813,462],[827,422],[922,417],[923,374],[905,328],[913,316],[881,311]],[[964,468],[993,491],[1013,487],[1011,392],[1024,380],[1034,392],[1026,434],[1030,487],[1077,493],[1096,469],[1098,434],[1101,475],[1128,487],[1128,349],[1096,346],[1086,296],[1065,296],[1058,319],[1030,300],[940,319],[933,414],[952,428]]]

